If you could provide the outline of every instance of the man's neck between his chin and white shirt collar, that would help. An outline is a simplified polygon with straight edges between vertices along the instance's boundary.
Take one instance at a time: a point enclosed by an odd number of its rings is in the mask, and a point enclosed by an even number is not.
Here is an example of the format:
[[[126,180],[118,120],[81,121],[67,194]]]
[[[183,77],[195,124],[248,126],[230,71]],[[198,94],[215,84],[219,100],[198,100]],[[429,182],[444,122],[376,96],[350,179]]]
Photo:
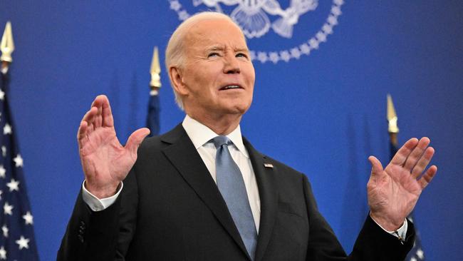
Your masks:
[[[238,127],[241,121],[241,114],[211,116],[211,115],[195,115],[194,113],[187,113],[189,117],[202,123],[207,128],[210,128],[214,133],[219,135],[228,135]]]

